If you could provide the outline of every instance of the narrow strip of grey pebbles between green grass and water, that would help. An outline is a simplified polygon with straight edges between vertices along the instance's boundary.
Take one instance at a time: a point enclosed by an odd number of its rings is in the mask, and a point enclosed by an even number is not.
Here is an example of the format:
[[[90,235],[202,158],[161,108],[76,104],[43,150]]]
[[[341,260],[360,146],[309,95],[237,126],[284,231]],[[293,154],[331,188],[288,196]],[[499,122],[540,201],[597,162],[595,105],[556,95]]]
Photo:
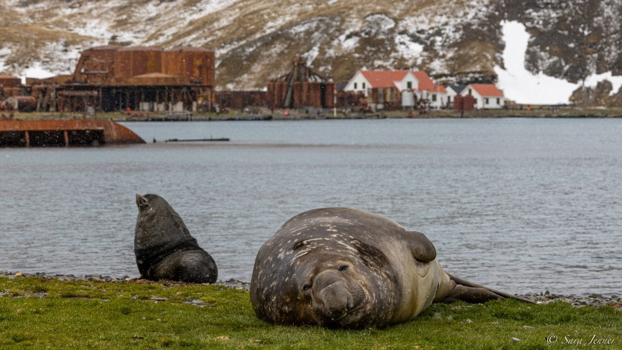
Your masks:
[[[165,286],[185,286],[185,282],[175,281],[150,281],[147,279],[141,279],[140,277],[111,277],[107,275],[84,275],[83,277],[76,277],[75,275],[46,275],[46,273],[10,273],[8,271],[0,271],[0,278],[27,278],[27,277],[40,277],[44,279],[57,279],[62,282],[101,282],[101,283],[120,283],[120,282],[133,282],[138,284],[163,284]],[[223,286],[225,288],[238,289],[241,291],[249,291],[250,282],[243,282],[237,279],[227,279],[226,281],[218,280],[213,284],[205,284],[211,286]],[[567,302],[574,307],[583,306],[612,306],[622,311],[622,298],[619,295],[602,295],[598,293],[590,293],[589,295],[560,295],[552,294],[549,291],[540,293],[527,293],[527,294],[515,294],[517,297],[525,298],[535,304],[549,304],[552,302]],[[3,297],[3,293],[0,292],[0,297]],[[24,296],[21,296],[24,297]],[[26,295],[26,297],[39,297],[44,298],[42,293],[32,293],[32,295]]]

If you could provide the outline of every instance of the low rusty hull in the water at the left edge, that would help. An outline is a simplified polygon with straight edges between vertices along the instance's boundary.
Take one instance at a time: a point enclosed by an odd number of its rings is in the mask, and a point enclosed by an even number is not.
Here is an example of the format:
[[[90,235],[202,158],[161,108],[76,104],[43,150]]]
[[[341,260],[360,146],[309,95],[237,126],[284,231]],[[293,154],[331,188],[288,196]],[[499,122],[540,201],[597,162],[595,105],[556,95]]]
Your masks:
[[[86,146],[144,143],[111,120],[0,120],[0,146]]]

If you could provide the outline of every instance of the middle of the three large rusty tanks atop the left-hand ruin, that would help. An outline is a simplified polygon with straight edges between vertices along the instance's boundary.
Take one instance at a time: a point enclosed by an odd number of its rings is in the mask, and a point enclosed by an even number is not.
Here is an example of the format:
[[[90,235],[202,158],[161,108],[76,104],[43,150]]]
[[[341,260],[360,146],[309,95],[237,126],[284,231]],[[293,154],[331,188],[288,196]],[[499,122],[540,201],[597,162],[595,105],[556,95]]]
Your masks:
[[[147,46],[129,46],[115,51],[115,82],[147,73],[162,73],[162,49]]]

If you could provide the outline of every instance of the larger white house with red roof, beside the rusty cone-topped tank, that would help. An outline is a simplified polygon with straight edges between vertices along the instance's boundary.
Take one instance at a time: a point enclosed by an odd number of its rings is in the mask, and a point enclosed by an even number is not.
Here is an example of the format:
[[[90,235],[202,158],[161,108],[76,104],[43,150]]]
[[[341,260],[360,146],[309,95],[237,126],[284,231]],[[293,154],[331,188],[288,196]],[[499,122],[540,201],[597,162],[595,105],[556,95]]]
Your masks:
[[[413,91],[417,98],[426,98],[433,108],[444,107],[447,91],[436,86],[424,71],[357,71],[343,91],[359,91],[368,95],[368,89],[395,88]]]

